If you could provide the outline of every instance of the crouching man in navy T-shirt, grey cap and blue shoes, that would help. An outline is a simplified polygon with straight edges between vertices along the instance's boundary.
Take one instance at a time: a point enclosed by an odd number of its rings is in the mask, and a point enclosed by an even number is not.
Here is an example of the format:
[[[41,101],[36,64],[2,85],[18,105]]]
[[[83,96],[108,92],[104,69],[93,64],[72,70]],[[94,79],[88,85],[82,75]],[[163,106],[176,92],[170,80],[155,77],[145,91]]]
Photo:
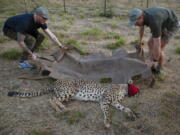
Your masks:
[[[44,40],[44,35],[38,32],[39,28],[42,28],[54,43],[62,46],[57,37],[48,29],[46,24],[48,19],[48,11],[45,8],[39,7],[34,14],[20,14],[6,20],[3,27],[4,35],[16,40],[23,50],[19,63],[20,68],[33,68],[26,60],[29,56],[36,60],[36,55],[33,52]]]

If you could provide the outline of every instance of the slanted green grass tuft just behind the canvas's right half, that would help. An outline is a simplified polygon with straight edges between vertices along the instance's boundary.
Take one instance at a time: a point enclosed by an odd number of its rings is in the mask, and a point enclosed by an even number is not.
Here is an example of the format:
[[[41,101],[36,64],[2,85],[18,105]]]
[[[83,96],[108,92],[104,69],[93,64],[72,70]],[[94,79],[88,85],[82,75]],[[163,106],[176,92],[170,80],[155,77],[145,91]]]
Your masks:
[[[125,45],[125,43],[126,43],[126,41],[124,39],[119,39],[116,42],[107,45],[106,47],[110,50],[115,50],[115,49],[120,48],[123,45]]]

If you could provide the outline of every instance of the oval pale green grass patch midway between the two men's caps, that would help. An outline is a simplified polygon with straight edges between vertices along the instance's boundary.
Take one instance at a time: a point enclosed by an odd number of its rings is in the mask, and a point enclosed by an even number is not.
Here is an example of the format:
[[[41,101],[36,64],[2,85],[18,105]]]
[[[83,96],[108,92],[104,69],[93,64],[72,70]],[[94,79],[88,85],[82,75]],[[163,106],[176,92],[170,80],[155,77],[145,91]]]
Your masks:
[[[87,37],[87,38],[93,38],[96,40],[102,39],[106,36],[106,33],[99,28],[91,28],[87,29],[81,32],[81,35]]]

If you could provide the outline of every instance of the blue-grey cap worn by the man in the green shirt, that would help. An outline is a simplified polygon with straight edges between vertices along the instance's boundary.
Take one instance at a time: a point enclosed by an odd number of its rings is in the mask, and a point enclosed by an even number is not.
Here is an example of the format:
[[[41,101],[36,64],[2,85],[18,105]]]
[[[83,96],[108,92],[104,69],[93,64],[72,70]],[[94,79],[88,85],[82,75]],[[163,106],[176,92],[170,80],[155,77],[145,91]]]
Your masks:
[[[143,14],[143,11],[139,8],[134,8],[129,11],[129,24],[128,26],[133,26],[136,24],[137,19]]]

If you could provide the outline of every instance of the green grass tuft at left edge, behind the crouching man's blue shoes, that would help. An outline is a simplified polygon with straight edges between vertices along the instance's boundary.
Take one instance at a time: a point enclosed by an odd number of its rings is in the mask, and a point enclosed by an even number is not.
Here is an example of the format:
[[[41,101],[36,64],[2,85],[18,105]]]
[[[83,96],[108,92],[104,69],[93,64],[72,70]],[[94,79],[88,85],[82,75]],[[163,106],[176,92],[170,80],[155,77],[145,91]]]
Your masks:
[[[21,54],[21,50],[17,48],[12,48],[0,53],[0,57],[8,60],[17,60],[21,56]]]

